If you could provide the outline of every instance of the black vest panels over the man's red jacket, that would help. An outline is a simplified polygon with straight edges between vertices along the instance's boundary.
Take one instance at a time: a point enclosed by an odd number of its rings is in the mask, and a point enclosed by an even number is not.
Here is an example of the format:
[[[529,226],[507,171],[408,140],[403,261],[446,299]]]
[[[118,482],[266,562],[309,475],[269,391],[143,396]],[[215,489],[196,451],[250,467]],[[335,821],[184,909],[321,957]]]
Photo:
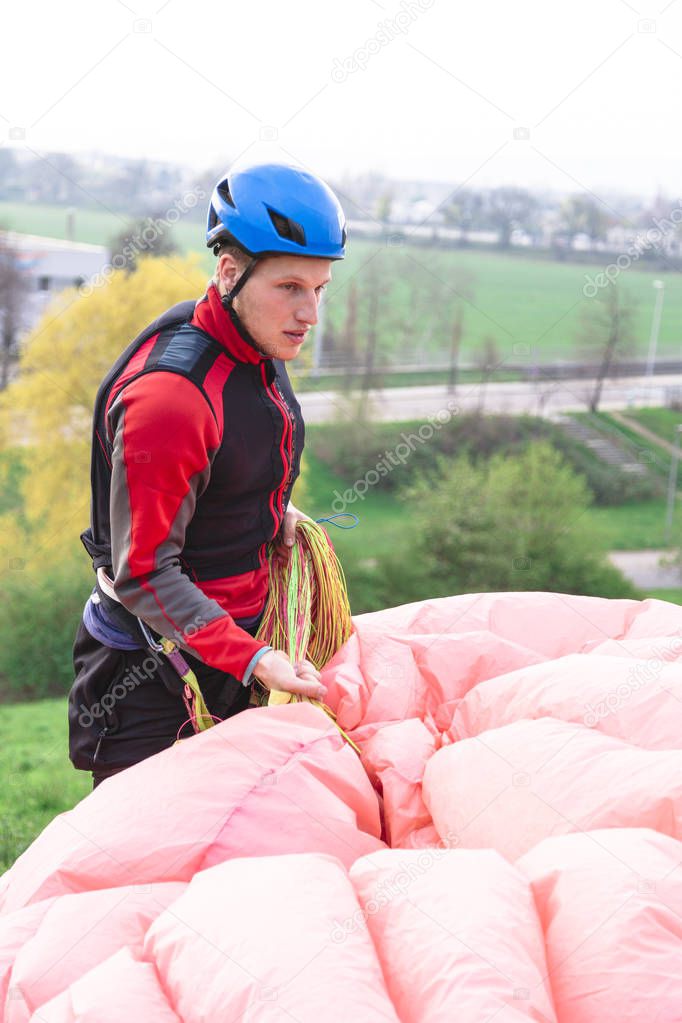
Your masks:
[[[147,373],[179,373],[201,391],[216,416],[203,383],[218,359],[225,359],[233,367],[223,389],[222,441],[212,463],[211,479],[197,499],[185,533],[182,570],[197,581],[253,571],[265,564],[266,544],[281,524],[282,516],[272,495],[286,476],[281,498],[282,508],[286,509],[300,473],[305,439],[301,407],[284,364],[278,359],[264,359],[257,364],[237,361],[215,338],[189,323],[193,312],[193,302],[182,302],[154,320],[128,346],[97,392],[90,471],[91,524],[81,534],[95,569],[111,565],[111,443],[105,409],[130,359],[156,333],[144,368],[125,386]],[[276,400],[269,393],[271,386]],[[292,426],[290,466],[280,451],[286,415]]]

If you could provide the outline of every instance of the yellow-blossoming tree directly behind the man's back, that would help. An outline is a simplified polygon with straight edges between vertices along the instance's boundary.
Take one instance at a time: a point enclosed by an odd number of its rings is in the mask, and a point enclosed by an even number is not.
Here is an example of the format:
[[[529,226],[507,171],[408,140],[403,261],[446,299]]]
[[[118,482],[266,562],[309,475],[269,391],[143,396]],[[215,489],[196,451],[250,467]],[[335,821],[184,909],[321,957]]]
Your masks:
[[[80,548],[78,535],[89,514],[90,421],[100,381],[161,311],[200,296],[204,285],[198,258],[146,259],[134,273],[115,273],[90,295],[61,292],[47,308],[24,343],[17,380],[3,395],[0,438],[5,448],[20,441],[27,472],[21,528],[16,515],[0,517],[0,563],[12,557],[58,563],[64,550]],[[9,552],[3,551],[7,537]]]

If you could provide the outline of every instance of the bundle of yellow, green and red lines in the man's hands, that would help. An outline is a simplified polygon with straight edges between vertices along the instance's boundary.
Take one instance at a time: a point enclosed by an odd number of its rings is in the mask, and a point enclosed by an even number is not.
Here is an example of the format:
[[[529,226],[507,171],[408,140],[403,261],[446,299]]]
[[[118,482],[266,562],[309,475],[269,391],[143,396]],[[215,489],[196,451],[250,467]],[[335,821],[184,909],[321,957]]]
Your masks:
[[[308,660],[323,668],[353,631],[344,570],[325,529],[312,520],[297,523],[287,561],[271,544],[268,599],[257,639],[281,650],[292,664]],[[319,700],[273,690],[268,704],[309,700],[334,723],[336,715]],[[359,752],[343,728],[336,727]]]

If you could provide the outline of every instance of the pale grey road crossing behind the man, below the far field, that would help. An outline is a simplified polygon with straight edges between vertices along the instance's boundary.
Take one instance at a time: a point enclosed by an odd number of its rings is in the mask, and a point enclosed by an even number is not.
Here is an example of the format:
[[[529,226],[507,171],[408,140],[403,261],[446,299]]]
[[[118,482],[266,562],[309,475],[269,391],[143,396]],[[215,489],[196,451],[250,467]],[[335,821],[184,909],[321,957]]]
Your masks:
[[[387,421],[426,419],[441,412],[445,421],[448,414],[475,411],[482,405],[486,412],[529,412],[548,417],[585,411],[592,387],[591,382],[585,380],[514,381],[486,387],[461,384],[454,395],[441,386],[388,388],[370,391],[369,395],[374,418]],[[645,376],[606,381],[599,407],[608,411],[665,405],[673,390],[679,390],[682,396],[682,375],[679,373],[655,376],[653,381]],[[298,397],[307,422],[327,422],[348,407],[344,395],[337,391],[299,391]]]

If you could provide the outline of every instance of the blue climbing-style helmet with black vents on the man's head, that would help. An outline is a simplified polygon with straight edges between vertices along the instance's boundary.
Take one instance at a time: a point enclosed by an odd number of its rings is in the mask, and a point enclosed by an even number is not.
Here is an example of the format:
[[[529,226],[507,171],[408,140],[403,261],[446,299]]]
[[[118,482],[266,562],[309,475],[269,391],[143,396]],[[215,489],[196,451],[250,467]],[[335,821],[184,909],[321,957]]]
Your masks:
[[[252,257],[343,259],[346,218],[331,188],[286,164],[235,169],[214,188],[207,246],[236,244]]]

